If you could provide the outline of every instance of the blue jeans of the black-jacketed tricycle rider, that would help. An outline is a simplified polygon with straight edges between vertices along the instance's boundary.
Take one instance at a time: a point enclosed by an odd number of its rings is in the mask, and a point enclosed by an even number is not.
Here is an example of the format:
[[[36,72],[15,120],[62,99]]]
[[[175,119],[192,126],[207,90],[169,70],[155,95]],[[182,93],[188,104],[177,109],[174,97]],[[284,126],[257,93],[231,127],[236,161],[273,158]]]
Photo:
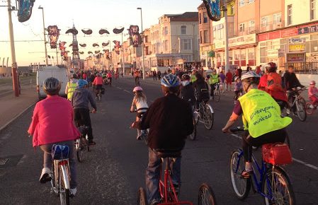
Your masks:
[[[174,162],[171,160],[171,180],[174,185],[181,182],[181,158],[176,158]],[[156,151],[149,148],[149,163],[146,169],[146,192],[148,204],[153,201],[160,201],[159,180],[160,180],[161,158],[158,157]]]

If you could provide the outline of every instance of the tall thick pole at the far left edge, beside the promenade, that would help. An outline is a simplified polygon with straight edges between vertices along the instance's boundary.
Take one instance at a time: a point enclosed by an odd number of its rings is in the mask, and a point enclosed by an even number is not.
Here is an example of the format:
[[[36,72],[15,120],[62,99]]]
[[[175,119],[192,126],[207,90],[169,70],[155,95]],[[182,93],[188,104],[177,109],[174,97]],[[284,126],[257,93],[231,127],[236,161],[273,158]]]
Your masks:
[[[10,34],[10,45],[11,45],[11,59],[12,59],[12,81],[13,81],[13,91],[16,97],[19,96],[19,86],[18,86],[18,75],[17,75],[17,64],[16,64],[16,48],[14,47],[14,36],[13,36],[13,25],[11,17],[11,0],[8,0],[8,30]]]

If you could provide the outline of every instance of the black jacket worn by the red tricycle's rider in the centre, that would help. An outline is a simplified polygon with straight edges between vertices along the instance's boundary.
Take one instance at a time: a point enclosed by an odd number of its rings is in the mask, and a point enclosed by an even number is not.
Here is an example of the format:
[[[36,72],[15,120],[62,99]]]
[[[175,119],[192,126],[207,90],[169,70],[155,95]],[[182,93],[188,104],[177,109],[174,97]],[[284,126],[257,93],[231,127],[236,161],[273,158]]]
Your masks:
[[[153,149],[181,150],[193,132],[193,112],[188,102],[176,95],[155,100],[142,118],[140,129],[150,129],[148,146]]]

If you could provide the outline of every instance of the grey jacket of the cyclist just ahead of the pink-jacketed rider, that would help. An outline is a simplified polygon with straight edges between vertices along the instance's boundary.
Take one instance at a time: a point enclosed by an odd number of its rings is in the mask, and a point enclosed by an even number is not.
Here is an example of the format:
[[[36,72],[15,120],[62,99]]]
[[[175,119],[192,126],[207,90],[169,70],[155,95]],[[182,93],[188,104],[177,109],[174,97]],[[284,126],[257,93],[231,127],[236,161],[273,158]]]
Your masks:
[[[72,106],[74,109],[85,108],[89,109],[89,102],[91,107],[97,110],[96,102],[91,95],[91,92],[85,88],[76,89],[72,95]]]

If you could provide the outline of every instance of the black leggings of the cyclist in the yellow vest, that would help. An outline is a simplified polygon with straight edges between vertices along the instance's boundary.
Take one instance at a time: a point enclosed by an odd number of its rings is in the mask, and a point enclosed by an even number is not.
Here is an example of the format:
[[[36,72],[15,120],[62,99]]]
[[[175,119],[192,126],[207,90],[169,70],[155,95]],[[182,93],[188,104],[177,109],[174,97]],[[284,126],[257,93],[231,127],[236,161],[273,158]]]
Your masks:
[[[244,151],[244,160],[245,162],[251,162],[251,152],[252,146],[259,147],[262,144],[268,143],[276,143],[276,142],[284,142],[287,136],[287,132],[285,129],[278,129],[276,131],[271,131],[266,134],[263,134],[259,137],[252,137],[249,135],[249,131],[245,131],[244,135],[242,136],[242,148]]]

